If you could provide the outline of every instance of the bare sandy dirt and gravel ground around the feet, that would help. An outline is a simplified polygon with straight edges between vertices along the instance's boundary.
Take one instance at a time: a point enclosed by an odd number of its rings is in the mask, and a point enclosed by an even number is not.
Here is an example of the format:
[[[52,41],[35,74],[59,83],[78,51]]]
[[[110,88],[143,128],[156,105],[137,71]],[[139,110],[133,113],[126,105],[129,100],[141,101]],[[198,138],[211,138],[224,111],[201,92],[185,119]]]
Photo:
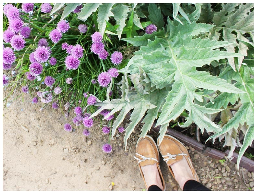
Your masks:
[[[39,111],[40,103],[32,104],[29,94],[25,97],[29,100],[18,99],[3,110],[4,191],[145,189],[133,158],[141,126],[132,133],[127,151],[124,134],[118,133],[111,141],[113,152],[105,154],[101,146],[108,135],[101,132],[100,121],[94,121],[87,138],[82,135],[82,127],[69,133],[63,125],[71,123],[71,118],[66,120],[60,110],[50,106]],[[254,173],[241,168],[237,171],[235,164],[221,164],[192,148],[189,152],[201,182],[211,190],[254,190]],[[163,161],[160,166],[166,190],[181,190]]]

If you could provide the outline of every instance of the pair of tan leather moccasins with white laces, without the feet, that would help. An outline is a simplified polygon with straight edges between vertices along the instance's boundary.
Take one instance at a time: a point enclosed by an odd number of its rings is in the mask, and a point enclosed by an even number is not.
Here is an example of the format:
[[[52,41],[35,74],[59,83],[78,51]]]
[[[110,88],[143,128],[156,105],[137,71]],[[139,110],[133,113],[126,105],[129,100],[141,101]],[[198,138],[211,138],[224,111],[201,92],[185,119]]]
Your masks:
[[[177,161],[182,160],[184,157],[186,161],[188,162],[188,165],[190,167],[190,170],[194,176],[194,178],[199,182],[199,178],[195,172],[195,169],[192,165],[191,158],[188,154],[188,150],[186,147],[176,138],[172,137],[171,135],[165,135],[163,138],[163,141],[159,145],[159,137],[157,139],[157,145],[152,137],[149,135],[146,135],[145,137],[140,137],[138,139],[137,145],[136,145],[136,156],[134,158],[138,160],[139,169],[142,175],[142,178],[144,180],[144,183],[146,187],[148,188],[149,185],[146,184],[145,178],[142,172],[141,167],[145,165],[152,165],[154,163],[157,164],[157,168],[159,171],[159,175],[162,181],[163,190],[165,190],[165,182],[162,175],[162,172],[160,170],[159,166],[159,151],[162,157],[164,158],[164,161],[168,165],[168,168],[175,179],[174,173],[171,169],[172,164],[174,164]],[[176,180],[176,179],[175,179]]]

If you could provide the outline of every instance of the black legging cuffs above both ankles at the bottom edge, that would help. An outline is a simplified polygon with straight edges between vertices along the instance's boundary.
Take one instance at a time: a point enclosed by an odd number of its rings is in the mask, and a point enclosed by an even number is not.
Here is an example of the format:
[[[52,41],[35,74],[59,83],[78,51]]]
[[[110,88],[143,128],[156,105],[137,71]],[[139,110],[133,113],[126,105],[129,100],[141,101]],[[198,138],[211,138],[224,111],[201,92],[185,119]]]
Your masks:
[[[148,188],[148,191],[162,191],[158,186],[151,185]],[[195,181],[195,180],[188,180],[184,184],[183,191],[210,191],[207,187],[202,185],[201,183]]]

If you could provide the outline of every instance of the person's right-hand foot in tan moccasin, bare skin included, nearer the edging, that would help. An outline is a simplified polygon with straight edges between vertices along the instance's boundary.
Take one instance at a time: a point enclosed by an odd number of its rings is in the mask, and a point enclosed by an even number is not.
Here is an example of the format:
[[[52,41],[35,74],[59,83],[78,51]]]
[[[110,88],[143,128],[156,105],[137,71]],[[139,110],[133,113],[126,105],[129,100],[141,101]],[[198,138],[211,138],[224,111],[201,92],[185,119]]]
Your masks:
[[[188,150],[179,140],[170,135],[165,135],[160,145],[159,138],[157,139],[157,145],[171,174],[178,182],[181,189],[183,189],[184,184],[188,180],[196,180],[199,182]]]

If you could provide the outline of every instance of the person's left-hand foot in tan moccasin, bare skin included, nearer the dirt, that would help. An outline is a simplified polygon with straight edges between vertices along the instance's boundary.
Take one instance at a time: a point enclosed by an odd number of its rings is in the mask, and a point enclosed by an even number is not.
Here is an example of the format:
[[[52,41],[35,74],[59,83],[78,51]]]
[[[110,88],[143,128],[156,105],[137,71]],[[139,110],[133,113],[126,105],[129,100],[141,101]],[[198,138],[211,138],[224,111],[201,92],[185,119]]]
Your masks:
[[[165,190],[165,182],[159,167],[159,151],[152,137],[146,135],[145,138],[138,139],[134,158],[138,160],[146,188],[157,185],[160,189]]]

